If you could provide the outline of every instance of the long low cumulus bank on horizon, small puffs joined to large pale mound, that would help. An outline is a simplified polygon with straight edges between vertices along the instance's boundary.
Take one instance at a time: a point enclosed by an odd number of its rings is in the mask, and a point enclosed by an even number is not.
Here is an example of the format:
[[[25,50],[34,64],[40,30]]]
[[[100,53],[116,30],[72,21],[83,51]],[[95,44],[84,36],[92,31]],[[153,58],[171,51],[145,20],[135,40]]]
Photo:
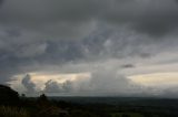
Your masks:
[[[140,95],[146,87],[141,87],[135,84],[129,78],[120,75],[117,71],[112,70],[98,70],[91,73],[89,79],[66,81],[63,83],[58,83],[57,81],[48,81],[44,84],[43,92],[58,93],[59,95],[66,93],[68,95]]]

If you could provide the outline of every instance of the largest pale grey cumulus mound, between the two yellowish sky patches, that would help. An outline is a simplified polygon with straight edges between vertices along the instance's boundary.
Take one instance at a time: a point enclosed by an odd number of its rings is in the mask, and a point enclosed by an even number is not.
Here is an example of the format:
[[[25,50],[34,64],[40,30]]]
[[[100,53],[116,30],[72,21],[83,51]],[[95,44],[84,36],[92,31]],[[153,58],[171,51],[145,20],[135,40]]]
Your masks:
[[[100,95],[128,95],[141,92],[139,85],[120,75],[117,70],[101,68],[91,74],[90,89]]]

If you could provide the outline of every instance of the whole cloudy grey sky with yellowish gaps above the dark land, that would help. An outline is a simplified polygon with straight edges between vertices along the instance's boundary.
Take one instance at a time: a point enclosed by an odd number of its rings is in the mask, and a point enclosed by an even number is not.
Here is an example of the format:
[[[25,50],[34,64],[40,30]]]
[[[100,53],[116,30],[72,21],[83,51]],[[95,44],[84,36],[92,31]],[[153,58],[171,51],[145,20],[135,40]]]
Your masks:
[[[0,0],[0,84],[178,97],[177,21],[178,0]]]

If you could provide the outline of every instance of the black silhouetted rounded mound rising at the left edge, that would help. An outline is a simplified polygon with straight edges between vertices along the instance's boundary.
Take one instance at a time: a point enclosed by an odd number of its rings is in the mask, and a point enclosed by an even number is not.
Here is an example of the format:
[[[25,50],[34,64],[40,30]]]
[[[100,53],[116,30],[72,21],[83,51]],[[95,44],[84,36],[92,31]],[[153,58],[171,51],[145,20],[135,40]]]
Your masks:
[[[18,92],[13,91],[12,88],[0,85],[0,105],[11,105],[17,104],[19,102],[19,94]]]

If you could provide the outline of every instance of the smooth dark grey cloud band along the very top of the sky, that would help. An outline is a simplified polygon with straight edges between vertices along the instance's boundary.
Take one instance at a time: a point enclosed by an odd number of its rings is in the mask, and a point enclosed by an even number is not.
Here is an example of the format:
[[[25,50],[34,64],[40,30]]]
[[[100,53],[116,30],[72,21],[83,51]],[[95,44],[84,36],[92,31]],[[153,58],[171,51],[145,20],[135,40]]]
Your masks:
[[[177,12],[176,0],[7,0],[0,14],[3,23],[41,31],[53,23],[67,22],[65,26],[59,26],[67,29],[68,35],[80,26],[80,22],[90,20],[125,23],[139,32],[162,35],[177,29]]]

